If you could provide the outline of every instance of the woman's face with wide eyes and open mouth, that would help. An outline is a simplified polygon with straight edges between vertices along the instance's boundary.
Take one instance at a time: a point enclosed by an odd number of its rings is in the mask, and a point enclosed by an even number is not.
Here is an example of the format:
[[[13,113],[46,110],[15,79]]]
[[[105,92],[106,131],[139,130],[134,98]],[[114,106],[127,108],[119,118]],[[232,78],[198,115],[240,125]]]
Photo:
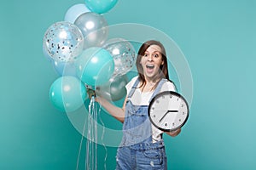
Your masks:
[[[151,45],[146,49],[140,64],[143,66],[144,77],[148,80],[159,74],[160,65],[164,64],[161,55],[161,48],[158,45]]]

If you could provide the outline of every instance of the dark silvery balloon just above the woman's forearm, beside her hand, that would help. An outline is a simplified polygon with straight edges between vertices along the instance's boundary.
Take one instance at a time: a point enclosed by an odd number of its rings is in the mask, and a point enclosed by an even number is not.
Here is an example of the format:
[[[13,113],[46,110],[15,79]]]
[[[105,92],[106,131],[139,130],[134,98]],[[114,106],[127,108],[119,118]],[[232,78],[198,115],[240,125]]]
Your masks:
[[[117,101],[126,95],[126,84],[128,78],[123,76],[112,77],[102,86],[96,87],[96,95],[102,96],[105,99]]]

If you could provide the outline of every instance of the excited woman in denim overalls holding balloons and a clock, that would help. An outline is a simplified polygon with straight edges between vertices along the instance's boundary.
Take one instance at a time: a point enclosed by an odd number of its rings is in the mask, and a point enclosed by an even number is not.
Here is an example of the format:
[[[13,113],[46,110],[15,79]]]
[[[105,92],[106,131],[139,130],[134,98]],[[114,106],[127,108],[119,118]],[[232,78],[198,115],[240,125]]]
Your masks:
[[[136,65],[138,76],[126,85],[127,96],[122,108],[96,97],[112,116],[123,122],[116,169],[167,169],[163,132],[148,119],[150,99],[161,91],[175,91],[169,80],[166,49],[158,41],[144,42]],[[177,129],[167,134],[174,137],[180,132],[181,129]]]

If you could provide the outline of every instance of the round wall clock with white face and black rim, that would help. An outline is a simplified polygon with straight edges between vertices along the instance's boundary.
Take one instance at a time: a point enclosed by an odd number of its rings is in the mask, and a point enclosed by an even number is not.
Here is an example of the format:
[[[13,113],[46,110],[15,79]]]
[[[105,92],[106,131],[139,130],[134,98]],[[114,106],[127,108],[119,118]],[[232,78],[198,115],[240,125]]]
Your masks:
[[[189,117],[189,105],[181,94],[166,91],[157,94],[148,106],[149,120],[162,131],[182,127]]]

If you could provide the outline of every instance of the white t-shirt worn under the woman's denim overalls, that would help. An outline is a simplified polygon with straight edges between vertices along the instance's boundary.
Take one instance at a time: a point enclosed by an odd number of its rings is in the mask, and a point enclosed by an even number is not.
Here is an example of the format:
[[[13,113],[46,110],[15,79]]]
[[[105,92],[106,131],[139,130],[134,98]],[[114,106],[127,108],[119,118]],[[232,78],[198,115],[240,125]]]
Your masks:
[[[127,95],[130,93],[131,88],[133,84],[136,82],[137,77],[133,77],[130,82],[128,82],[125,86],[127,90]],[[163,91],[176,91],[176,88],[172,82],[165,82],[162,87],[160,88],[160,92]],[[131,102],[133,105],[149,105],[149,99],[151,98],[152,94],[154,94],[154,91],[151,92],[142,92],[140,88],[136,88],[134,91],[134,94],[131,97]],[[163,133],[161,130],[158,128],[152,127],[152,139],[153,142],[159,141],[161,139],[161,133]]]

